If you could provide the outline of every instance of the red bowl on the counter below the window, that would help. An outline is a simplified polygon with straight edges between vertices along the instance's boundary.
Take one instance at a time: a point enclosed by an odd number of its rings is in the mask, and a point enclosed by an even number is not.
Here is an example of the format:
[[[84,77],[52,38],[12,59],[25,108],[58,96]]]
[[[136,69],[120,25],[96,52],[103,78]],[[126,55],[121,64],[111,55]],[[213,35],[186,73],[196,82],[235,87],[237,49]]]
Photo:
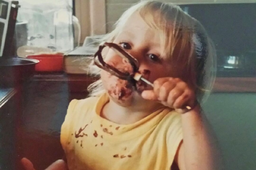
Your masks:
[[[37,54],[28,55],[27,58],[39,60],[35,66],[35,71],[59,72],[63,70],[63,56],[63,54]]]

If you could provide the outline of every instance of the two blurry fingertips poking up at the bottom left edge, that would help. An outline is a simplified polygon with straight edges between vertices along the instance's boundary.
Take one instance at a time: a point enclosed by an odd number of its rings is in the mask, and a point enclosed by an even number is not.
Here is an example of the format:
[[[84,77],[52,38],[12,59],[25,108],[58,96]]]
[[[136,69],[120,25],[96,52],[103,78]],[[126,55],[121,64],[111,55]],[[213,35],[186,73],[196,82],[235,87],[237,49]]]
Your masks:
[[[35,170],[33,163],[31,161],[29,161],[29,159],[27,159],[27,158],[22,158],[21,164],[23,165],[25,170]],[[45,170],[68,170],[68,168],[67,168],[67,164],[62,159],[60,159],[60,160],[53,162]]]

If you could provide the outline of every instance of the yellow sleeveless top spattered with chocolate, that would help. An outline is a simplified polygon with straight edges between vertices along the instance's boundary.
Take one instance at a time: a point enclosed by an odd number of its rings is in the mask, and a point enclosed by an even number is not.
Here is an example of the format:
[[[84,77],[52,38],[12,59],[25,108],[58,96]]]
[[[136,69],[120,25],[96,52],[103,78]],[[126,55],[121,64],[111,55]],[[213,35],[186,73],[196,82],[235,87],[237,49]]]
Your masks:
[[[181,116],[162,107],[128,125],[99,116],[109,98],[72,100],[61,127],[69,170],[170,170],[182,140]]]

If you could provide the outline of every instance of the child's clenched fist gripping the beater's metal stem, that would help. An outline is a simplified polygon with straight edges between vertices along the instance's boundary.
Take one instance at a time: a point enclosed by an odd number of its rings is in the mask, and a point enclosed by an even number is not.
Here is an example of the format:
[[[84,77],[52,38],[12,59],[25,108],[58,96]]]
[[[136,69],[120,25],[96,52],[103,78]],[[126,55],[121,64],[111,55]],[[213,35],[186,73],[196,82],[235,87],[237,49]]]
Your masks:
[[[186,106],[194,108],[197,103],[194,89],[179,78],[159,78],[154,81],[153,90],[144,90],[141,95],[148,100],[158,100],[179,113],[189,111]]]

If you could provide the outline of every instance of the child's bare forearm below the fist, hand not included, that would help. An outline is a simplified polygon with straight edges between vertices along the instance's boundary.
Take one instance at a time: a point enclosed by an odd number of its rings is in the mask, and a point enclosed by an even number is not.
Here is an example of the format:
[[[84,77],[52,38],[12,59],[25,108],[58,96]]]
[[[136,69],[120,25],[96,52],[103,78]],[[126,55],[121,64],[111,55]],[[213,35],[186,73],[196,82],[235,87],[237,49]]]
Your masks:
[[[211,139],[205,123],[200,116],[200,106],[181,115],[183,141],[176,153],[180,170],[207,169],[219,170],[216,160],[216,143]]]

